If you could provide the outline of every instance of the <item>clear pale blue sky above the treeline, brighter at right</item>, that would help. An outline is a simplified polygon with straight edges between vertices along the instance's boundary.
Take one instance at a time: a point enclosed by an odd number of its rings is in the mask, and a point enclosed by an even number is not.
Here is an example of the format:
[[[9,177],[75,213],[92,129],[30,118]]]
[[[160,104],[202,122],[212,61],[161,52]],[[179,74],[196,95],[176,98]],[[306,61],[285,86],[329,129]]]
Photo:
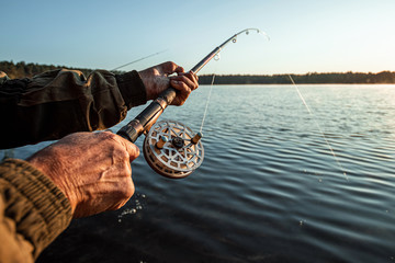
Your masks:
[[[0,60],[185,70],[240,35],[200,73],[395,71],[395,0],[0,0]]]

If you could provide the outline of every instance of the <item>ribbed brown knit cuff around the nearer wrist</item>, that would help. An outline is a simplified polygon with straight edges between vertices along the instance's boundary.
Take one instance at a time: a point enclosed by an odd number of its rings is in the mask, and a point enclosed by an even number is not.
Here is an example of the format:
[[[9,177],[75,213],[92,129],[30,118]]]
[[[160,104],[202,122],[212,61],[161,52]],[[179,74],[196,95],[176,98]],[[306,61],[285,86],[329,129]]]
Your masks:
[[[7,159],[0,164],[0,181],[9,185],[14,197],[8,214],[35,247],[35,258],[70,224],[70,203],[44,173],[26,161]]]

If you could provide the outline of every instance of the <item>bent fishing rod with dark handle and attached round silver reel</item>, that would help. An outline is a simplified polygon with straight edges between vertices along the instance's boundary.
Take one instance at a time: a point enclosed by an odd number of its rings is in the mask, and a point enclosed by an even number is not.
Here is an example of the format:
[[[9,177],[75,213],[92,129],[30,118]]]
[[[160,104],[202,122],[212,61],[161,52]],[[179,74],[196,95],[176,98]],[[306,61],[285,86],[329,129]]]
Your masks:
[[[236,43],[237,36],[242,33],[248,35],[251,31],[266,35],[258,28],[242,30],[215,47],[190,71],[198,73],[228,43]],[[143,152],[146,161],[157,173],[171,179],[190,175],[202,164],[204,159],[201,133],[194,134],[191,128],[176,121],[156,123],[176,95],[177,90],[172,87],[168,88],[140,114],[117,132],[117,135],[132,142],[135,142],[142,134],[145,134]]]

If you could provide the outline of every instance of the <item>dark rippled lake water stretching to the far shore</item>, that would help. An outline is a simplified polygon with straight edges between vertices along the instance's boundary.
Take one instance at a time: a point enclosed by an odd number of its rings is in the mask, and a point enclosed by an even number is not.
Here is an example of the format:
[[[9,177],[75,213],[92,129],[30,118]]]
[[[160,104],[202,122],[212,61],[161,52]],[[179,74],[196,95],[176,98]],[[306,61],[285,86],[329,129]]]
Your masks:
[[[142,155],[132,199],[38,262],[395,262],[395,85],[298,88],[314,116],[292,85],[214,87],[202,167],[169,180]],[[198,132],[208,91],[161,119]]]

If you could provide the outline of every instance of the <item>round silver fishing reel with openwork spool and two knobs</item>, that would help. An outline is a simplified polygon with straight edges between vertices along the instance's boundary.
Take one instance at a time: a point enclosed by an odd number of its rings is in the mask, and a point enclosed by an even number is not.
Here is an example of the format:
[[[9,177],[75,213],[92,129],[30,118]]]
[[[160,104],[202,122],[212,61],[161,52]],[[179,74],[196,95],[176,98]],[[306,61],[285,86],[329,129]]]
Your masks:
[[[157,173],[171,179],[185,178],[203,162],[201,137],[180,122],[157,122],[144,140],[144,157]]]

